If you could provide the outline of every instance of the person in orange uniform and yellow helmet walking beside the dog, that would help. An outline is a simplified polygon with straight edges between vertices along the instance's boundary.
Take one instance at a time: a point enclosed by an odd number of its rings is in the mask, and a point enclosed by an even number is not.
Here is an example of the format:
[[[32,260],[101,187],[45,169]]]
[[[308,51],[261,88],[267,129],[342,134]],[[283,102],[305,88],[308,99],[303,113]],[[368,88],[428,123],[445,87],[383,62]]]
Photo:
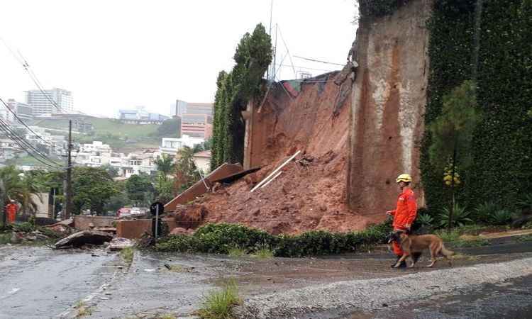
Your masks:
[[[417,213],[417,203],[416,197],[414,196],[414,191],[410,189],[410,184],[412,182],[412,177],[409,174],[401,174],[396,179],[399,189],[401,189],[401,194],[397,198],[397,208],[393,211],[387,211],[387,215],[394,216],[394,221],[392,226],[394,228],[394,233],[409,233],[412,223],[416,220]],[[397,260],[403,255],[401,246],[397,242],[392,242],[392,247],[394,254],[397,254]],[[414,259],[419,258],[419,254],[412,256]],[[392,267],[397,262],[392,264]],[[406,262],[401,262],[400,268],[406,267]]]

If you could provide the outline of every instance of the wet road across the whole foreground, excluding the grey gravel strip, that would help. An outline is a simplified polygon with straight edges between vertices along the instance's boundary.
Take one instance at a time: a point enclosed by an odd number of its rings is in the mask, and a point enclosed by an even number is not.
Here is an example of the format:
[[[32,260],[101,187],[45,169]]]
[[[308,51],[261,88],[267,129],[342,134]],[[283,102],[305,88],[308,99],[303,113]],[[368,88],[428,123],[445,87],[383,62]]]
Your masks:
[[[529,243],[479,247],[460,252],[453,267],[531,257]],[[187,318],[201,306],[206,293],[222,281],[237,281],[243,297],[353,279],[388,278],[397,272],[389,254],[353,254],[328,258],[260,260],[220,255],[157,254],[135,251],[131,268],[116,253],[104,250],[50,250],[47,247],[0,246],[0,318],[72,318],[73,306],[84,301],[84,318],[154,318],[172,314]],[[421,260],[420,266],[427,260]],[[172,271],[165,268],[172,266]],[[448,268],[440,262],[438,269]],[[532,265],[531,265],[532,267]],[[373,313],[352,311],[327,318],[526,318],[532,313],[532,279],[511,281],[472,291],[383,307]],[[526,289],[528,291],[528,289]],[[386,293],[383,291],[383,293]],[[465,306],[464,306],[465,305]],[[522,311],[518,317],[504,313]],[[301,317],[303,318],[303,317]],[[314,317],[319,318],[319,317]],[[325,317],[324,317],[325,318]]]

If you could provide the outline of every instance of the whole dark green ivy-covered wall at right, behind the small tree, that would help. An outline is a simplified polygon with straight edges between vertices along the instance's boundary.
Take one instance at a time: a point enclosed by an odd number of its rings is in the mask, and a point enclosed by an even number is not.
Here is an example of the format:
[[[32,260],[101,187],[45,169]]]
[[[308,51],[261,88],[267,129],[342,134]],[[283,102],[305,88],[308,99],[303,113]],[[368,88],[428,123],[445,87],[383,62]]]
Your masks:
[[[532,0],[483,0],[475,41],[480,2],[435,1],[425,123],[439,115],[444,94],[477,74],[484,118],[473,140],[472,167],[462,172],[458,201],[469,208],[492,201],[511,209],[532,186],[532,119],[526,113],[532,104]],[[428,207],[436,210],[448,205],[449,194],[442,172],[428,161],[430,141],[426,131],[421,171]]]

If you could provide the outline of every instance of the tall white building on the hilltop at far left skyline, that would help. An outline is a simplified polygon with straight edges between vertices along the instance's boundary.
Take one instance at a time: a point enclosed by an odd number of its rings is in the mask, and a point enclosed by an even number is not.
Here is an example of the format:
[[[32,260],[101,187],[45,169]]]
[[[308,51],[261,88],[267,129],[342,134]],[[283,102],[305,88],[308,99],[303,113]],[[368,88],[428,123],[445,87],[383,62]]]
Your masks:
[[[54,101],[57,107],[50,100]],[[72,92],[64,89],[26,91],[26,103],[31,105],[33,116],[74,112]]]

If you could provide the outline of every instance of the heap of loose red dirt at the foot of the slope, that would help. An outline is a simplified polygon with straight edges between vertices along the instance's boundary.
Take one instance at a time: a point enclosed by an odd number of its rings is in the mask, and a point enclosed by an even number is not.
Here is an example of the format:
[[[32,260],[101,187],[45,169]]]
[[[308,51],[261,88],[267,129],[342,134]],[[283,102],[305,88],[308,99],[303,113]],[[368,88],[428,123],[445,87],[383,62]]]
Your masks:
[[[348,211],[345,204],[345,154],[303,155],[282,169],[267,186],[251,193],[255,183],[282,160],[248,178],[204,197],[204,223],[243,223],[272,234],[306,230],[362,230],[370,218]]]

